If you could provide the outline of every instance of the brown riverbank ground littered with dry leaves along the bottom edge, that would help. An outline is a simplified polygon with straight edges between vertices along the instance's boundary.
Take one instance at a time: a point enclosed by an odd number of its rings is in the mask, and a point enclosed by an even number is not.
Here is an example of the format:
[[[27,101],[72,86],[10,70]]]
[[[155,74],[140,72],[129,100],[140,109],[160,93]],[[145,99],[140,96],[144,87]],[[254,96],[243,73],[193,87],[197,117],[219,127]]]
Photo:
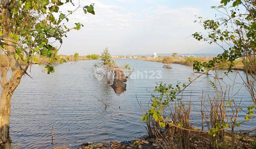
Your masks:
[[[256,137],[249,135],[248,133],[236,133],[235,144],[236,148],[255,148]],[[232,141],[231,134],[226,132],[225,140],[227,142],[227,148],[231,148],[228,142]],[[210,136],[207,132],[191,132],[190,148],[193,149],[210,149]],[[155,148],[180,148],[180,142],[177,140],[171,140],[169,136],[160,138],[140,138],[131,141],[122,142],[97,142],[97,143],[83,143],[78,149],[155,149]]]

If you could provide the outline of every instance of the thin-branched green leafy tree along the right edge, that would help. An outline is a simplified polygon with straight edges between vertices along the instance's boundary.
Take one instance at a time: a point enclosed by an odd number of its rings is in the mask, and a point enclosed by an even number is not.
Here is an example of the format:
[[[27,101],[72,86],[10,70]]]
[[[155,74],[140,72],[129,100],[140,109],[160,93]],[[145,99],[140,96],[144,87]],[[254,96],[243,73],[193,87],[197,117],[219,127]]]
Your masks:
[[[226,7],[230,2],[232,2],[231,7]],[[238,71],[237,73],[242,79],[243,85],[249,92],[252,100],[251,106],[247,107],[245,116],[245,120],[248,121],[256,117],[256,1],[221,0],[220,3],[223,5],[218,7],[213,6],[212,9],[217,10],[222,16],[221,18],[218,18],[217,20],[203,20],[202,17],[199,17],[199,20],[202,22],[204,29],[208,32],[208,35],[196,32],[192,36],[199,41],[208,41],[209,44],[215,43],[219,45],[224,52],[217,57],[214,57],[209,62],[202,63],[200,61],[194,61],[193,69],[198,72],[207,72],[209,70],[216,70],[220,65],[228,64],[228,72],[232,72],[235,60],[241,59],[246,77],[241,77]],[[228,75],[228,72],[225,72],[225,74]],[[216,79],[219,80],[219,78]],[[233,122],[233,125],[231,126],[232,144],[233,148],[235,148],[234,127],[237,124],[236,121],[232,119],[231,121]],[[215,123],[213,124],[213,126],[215,126]],[[215,135],[213,129],[216,129],[217,127],[218,126],[212,128],[212,134]],[[221,126],[220,128],[225,127]],[[225,133],[222,134],[224,136]],[[216,138],[224,138],[223,136],[219,137],[219,134],[217,134],[216,137],[214,136],[212,144],[215,144],[215,142],[224,142],[222,141],[223,139],[216,140]]]

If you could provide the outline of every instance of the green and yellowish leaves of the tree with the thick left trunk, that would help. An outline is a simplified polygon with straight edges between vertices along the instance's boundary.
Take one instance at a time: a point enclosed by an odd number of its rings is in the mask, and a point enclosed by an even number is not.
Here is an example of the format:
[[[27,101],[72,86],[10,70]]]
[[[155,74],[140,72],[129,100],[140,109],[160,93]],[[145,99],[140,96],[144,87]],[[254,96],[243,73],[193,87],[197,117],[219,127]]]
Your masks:
[[[39,64],[36,55],[52,58],[55,51],[49,44],[49,40],[55,39],[62,44],[62,38],[72,29],[80,30],[81,23],[75,23],[75,26],[68,28],[64,21],[69,21],[68,16],[74,11],[68,11],[68,14],[59,12],[59,7],[68,4],[71,1],[61,2],[59,0],[40,0],[40,1],[10,1],[10,26],[2,26],[0,35],[1,48],[6,51],[7,38],[14,44],[16,53],[15,58],[21,64],[29,65],[32,60]],[[72,3],[72,2],[71,2]],[[84,11],[94,14],[93,5],[85,6]],[[2,12],[4,8],[2,7]],[[58,15],[57,15],[58,14]],[[3,16],[0,20],[3,20]],[[7,31],[8,28],[8,31]],[[10,30],[9,30],[10,29]],[[47,65],[51,69],[52,63]],[[48,71],[49,72],[49,71]]]

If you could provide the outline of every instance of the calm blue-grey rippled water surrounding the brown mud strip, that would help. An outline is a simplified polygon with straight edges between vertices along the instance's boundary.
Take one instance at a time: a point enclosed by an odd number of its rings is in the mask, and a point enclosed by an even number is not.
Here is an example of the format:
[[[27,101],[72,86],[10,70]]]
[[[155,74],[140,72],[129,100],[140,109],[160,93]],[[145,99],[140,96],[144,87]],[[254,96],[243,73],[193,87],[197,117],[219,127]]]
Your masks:
[[[173,69],[162,68],[158,62],[138,60],[116,60],[118,65],[130,64],[135,68],[134,76],[127,81],[127,91],[121,95],[114,93],[105,82],[99,82],[84,68],[95,61],[68,62],[55,67],[55,72],[47,75],[44,66],[32,66],[31,76],[22,78],[21,84],[11,101],[10,134],[14,144],[20,148],[52,148],[51,129],[54,131],[54,145],[76,148],[82,142],[108,140],[131,140],[146,134],[140,122],[135,95],[143,104],[148,103],[155,83],[163,81],[176,84],[187,83],[194,78],[191,67],[172,64]],[[223,74],[224,71],[220,71]],[[244,72],[240,72],[244,75]],[[229,77],[235,77],[230,73]],[[238,76],[237,76],[238,78]],[[185,100],[192,92],[192,121],[201,121],[198,114],[202,89],[205,95],[213,96],[209,85],[212,77],[200,78],[184,93]],[[224,80],[233,84],[229,78]],[[237,79],[236,83],[241,82]],[[243,99],[242,107],[250,105],[250,96],[241,85],[236,84],[233,94],[240,89],[235,100]],[[106,100],[107,109],[97,101]],[[120,106],[120,109],[119,109]],[[244,113],[241,112],[240,120]],[[255,121],[246,127],[254,128]],[[198,126],[200,127],[200,126]]]

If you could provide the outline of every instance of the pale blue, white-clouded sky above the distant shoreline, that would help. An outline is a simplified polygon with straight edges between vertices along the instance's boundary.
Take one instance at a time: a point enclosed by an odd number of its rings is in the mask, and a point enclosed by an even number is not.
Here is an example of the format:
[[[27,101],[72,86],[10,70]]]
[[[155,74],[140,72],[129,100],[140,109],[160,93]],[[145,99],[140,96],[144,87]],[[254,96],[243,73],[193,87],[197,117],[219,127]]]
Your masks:
[[[73,2],[79,5],[79,0]],[[100,54],[104,48],[109,48],[112,55],[222,51],[191,37],[203,32],[194,20],[198,16],[214,19],[216,11],[210,7],[220,5],[220,0],[80,0],[81,6],[91,3],[95,4],[95,15],[84,14],[81,8],[65,22],[70,28],[75,22],[84,27],[67,34],[59,54]],[[75,6],[66,4],[60,10],[64,13]]]

